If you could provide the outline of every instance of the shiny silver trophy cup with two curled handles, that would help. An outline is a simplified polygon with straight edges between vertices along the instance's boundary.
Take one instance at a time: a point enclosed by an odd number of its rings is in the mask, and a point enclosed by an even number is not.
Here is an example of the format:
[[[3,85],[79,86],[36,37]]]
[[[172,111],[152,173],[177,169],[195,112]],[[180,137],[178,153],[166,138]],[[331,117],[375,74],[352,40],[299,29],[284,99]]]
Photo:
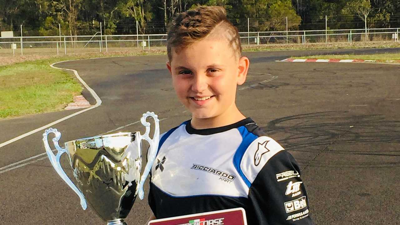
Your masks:
[[[146,121],[149,116],[155,121],[153,139],[149,137],[150,123]],[[79,196],[82,208],[86,209],[88,201],[107,225],[126,225],[124,219],[132,209],[136,196],[139,195],[140,199],[144,197],[143,185],[156,158],[160,129],[154,112],[144,113],[140,122],[146,127],[144,135],[138,131],[100,135],[68,141],[64,148],[58,145],[61,133],[57,129],[50,128],[43,134],[44,147],[58,175]],[[48,143],[50,133],[56,136],[52,139],[56,154]],[[147,165],[140,176],[142,139],[150,147]],[[61,167],[60,157],[63,153],[67,153],[78,187]]]

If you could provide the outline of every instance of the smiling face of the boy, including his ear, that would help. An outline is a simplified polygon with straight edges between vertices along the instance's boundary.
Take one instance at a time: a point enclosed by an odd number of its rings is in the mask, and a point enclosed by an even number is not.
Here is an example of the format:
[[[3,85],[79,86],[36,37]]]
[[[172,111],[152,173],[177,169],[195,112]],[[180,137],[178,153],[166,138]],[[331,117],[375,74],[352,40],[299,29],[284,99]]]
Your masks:
[[[236,86],[246,80],[249,60],[238,59],[225,38],[205,38],[175,52],[167,68],[179,100],[195,119],[229,117]]]

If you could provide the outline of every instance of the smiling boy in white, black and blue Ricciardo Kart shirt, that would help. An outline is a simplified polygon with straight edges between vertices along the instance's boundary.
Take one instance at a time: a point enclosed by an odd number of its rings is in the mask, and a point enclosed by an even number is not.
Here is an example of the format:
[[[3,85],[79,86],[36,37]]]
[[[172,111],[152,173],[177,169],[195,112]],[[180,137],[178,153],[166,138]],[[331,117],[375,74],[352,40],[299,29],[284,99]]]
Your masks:
[[[243,207],[249,225],[312,224],[296,161],[236,107],[249,59],[224,8],[179,14],[167,42],[167,68],[192,119],[160,137],[150,219]]]

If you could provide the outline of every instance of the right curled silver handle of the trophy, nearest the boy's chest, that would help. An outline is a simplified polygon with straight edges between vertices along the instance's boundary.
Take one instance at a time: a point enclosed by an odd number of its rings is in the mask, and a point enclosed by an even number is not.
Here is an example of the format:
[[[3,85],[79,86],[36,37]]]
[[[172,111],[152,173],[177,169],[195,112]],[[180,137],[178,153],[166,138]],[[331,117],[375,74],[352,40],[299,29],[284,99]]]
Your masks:
[[[153,117],[154,122],[155,122],[155,129],[154,129],[154,136],[153,139],[149,137],[150,133],[150,123],[146,121],[147,117]],[[158,142],[160,141],[160,125],[159,122],[160,120],[157,118],[157,115],[154,114],[154,112],[146,112],[143,113],[143,117],[140,118],[140,122],[142,122],[142,125],[146,127],[146,131],[144,135],[142,135],[142,139],[146,140],[149,144],[150,147],[148,149],[148,159],[147,159],[147,164],[146,167],[144,168],[143,175],[140,177],[140,183],[139,183],[139,198],[143,200],[144,198],[144,190],[143,190],[143,185],[144,181],[146,181],[147,176],[150,173],[151,167],[153,166],[154,160],[156,159],[157,155],[157,150],[158,150]]]

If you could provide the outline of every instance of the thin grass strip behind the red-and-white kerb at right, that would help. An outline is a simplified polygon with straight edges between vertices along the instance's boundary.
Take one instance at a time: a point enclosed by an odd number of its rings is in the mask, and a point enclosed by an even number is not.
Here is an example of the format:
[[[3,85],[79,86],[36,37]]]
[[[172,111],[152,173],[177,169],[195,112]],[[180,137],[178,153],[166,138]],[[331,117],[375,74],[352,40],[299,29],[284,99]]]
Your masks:
[[[394,54],[370,54],[370,55],[315,55],[315,56],[302,56],[302,57],[290,57],[290,58],[313,58],[313,59],[362,59],[362,60],[400,60],[400,53]]]

